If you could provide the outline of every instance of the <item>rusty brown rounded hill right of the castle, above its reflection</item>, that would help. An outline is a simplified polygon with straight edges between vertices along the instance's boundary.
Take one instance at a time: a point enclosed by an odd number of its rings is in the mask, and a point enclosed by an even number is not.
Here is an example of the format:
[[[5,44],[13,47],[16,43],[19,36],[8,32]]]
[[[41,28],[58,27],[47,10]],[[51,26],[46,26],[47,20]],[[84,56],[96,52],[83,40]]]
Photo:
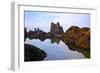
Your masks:
[[[75,47],[90,50],[90,28],[71,26],[64,33],[64,42]]]

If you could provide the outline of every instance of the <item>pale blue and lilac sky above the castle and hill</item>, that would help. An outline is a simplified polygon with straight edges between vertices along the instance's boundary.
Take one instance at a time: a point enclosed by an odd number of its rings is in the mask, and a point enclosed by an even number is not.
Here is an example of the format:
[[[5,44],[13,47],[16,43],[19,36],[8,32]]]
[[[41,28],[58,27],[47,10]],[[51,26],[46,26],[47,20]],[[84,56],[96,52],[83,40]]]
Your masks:
[[[59,22],[64,32],[71,26],[90,27],[90,14],[24,11],[24,26],[27,31],[39,27],[49,32],[51,22]]]

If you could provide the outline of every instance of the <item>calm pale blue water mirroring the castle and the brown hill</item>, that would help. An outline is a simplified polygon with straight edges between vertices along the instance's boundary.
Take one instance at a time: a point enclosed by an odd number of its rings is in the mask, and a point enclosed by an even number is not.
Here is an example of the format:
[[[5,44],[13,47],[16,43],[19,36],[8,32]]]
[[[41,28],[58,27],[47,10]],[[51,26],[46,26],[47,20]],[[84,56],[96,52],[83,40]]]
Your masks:
[[[90,52],[67,45],[61,38],[27,38],[25,43],[36,46],[47,53],[44,60],[64,60],[90,58]]]

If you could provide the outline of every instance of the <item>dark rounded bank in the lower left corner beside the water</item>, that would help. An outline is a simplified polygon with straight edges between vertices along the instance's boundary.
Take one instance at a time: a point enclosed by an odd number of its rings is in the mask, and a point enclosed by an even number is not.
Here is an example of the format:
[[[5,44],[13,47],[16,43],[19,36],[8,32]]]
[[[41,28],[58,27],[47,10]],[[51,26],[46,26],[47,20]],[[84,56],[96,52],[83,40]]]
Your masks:
[[[47,54],[33,46],[33,45],[29,45],[29,44],[24,44],[24,61],[41,61],[44,60],[44,58],[47,56]]]

